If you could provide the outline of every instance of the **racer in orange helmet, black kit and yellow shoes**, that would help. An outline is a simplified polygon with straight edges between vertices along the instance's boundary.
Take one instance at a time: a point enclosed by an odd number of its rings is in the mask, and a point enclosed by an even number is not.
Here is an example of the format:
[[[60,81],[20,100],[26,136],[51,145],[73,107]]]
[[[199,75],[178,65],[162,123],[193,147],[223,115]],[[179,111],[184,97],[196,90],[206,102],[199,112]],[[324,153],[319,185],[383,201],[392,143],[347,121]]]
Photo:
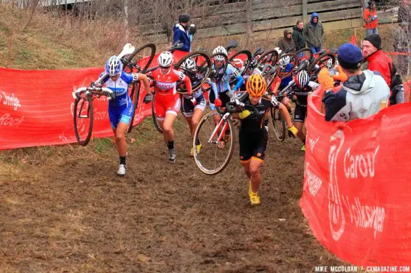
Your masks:
[[[246,89],[248,93],[247,98],[244,100],[246,106],[240,114],[234,114],[233,116],[240,118],[240,162],[249,178],[250,202],[251,205],[259,205],[260,167],[263,164],[268,139],[263,122],[270,108],[280,107],[280,102],[274,96],[270,98],[263,95],[267,91],[267,83],[261,75],[251,75],[247,81]],[[254,105],[258,112],[256,113],[255,109],[247,107],[247,104]],[[284,112],[284,110],[281,112]],[[286,117],[289,136],[295,137],[297,129],[291,123],[290,116],[286,113],[283,114]]]

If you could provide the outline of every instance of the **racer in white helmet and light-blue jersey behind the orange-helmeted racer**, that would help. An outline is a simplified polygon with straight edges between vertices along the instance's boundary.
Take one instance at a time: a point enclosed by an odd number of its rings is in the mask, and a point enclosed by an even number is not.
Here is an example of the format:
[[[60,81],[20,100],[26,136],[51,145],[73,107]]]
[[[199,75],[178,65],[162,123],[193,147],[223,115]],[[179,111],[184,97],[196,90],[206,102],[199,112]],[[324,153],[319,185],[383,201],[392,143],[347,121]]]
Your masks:
[[[222,54],[226,57],[228,56],[226,49],[221,45],[219,47],[216,47],[212,51],[212,54]],[[211,90],[210,93],[208,93],[208,100],[210,101],[210,110],[216,109],[214,102],[217,98],[219,98],[219,100],[222,101],[222,105],[224,107],[225,104],[230,101],[230,98],[233,98],[234,92],[238,91],[238,89],[240,88],[240,86],[242,86],[242,83],[244,81],[238,70],[236,70],[230,63],[227,64],[226,71],[224,72],[224,61],[226,59],[222,55],[217,55],[213,57],[215,60],[215,67],[213,67],[213,70],[215,70],[215,72],[213,74],[215,75],[214,77],[211,77],[211,81],[214,84],[210,83]],[[224,72],[224,75],[222,75],[222,77],[218,77],[217,75],[221,75],[222,72]],[[237,79],[237,83],[235,84],[233,89],[231,89],[230,86],[231,77],[235,77],[235,79]],[[215,124],[217,125],[221,117],[213,116],[213,118]],[[219,143],[219,148],[224,148],[224,141],[221,141]]]

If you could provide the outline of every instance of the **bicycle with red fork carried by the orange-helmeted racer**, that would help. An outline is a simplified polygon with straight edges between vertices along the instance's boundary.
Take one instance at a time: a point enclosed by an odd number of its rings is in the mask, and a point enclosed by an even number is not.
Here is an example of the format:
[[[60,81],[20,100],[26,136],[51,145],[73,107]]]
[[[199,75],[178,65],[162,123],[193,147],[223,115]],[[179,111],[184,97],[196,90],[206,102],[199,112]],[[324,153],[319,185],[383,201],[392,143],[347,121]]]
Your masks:
[[[230,162],[233,156],[235,129],[231,116],[233,113],[240,112],[240,109],[244,107],[251,107],[259,115],[259,111],[254,105],[242,103],[238,98],[235,98],[226,103],[226,111],[217,107],[217,110],[210,111],[201,118],[193,138],[194,161],[201,172],[214,176],[222,172]],[[215,115],[222,116],[217,125],[214,123],[213,116]],[[203,143],[201,154],[196,152],[196,139],[200,139]],[[217,147],[220,141],[226,143],[224,148]],[[224,155],[225,153],[226,155]],[[213,156],[214,158],[212,158]]]

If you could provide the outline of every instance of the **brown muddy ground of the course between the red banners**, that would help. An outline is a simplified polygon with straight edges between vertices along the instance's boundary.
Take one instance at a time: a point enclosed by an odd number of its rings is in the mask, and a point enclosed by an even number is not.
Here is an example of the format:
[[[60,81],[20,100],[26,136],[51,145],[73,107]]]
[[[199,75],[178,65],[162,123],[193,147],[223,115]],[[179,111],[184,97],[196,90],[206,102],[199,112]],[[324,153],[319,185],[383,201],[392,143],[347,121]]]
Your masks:
[[[270,128],[261,205],[251,208],[238,146],[225,171],[206,176],[189,157],[183,121],[176,132],[170,164],[150,120],[139,125],[125,178],[116,177],[118,154],[107,140],[3,153],[0,272],[313,272],[344,264],[302,216],[299,141],[281,143]]]

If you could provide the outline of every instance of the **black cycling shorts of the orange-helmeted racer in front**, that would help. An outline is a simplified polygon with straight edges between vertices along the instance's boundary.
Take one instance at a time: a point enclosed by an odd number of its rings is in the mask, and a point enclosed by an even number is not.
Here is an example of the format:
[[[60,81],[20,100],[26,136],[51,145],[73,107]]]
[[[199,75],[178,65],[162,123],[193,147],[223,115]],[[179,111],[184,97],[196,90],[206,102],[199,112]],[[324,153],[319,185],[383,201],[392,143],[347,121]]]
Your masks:
[[[240,142],[240,162],[247,162],[251,157],[264,160],[268,141],[268,133],[265,128],[256,132],[240,130],[238,137]]]

